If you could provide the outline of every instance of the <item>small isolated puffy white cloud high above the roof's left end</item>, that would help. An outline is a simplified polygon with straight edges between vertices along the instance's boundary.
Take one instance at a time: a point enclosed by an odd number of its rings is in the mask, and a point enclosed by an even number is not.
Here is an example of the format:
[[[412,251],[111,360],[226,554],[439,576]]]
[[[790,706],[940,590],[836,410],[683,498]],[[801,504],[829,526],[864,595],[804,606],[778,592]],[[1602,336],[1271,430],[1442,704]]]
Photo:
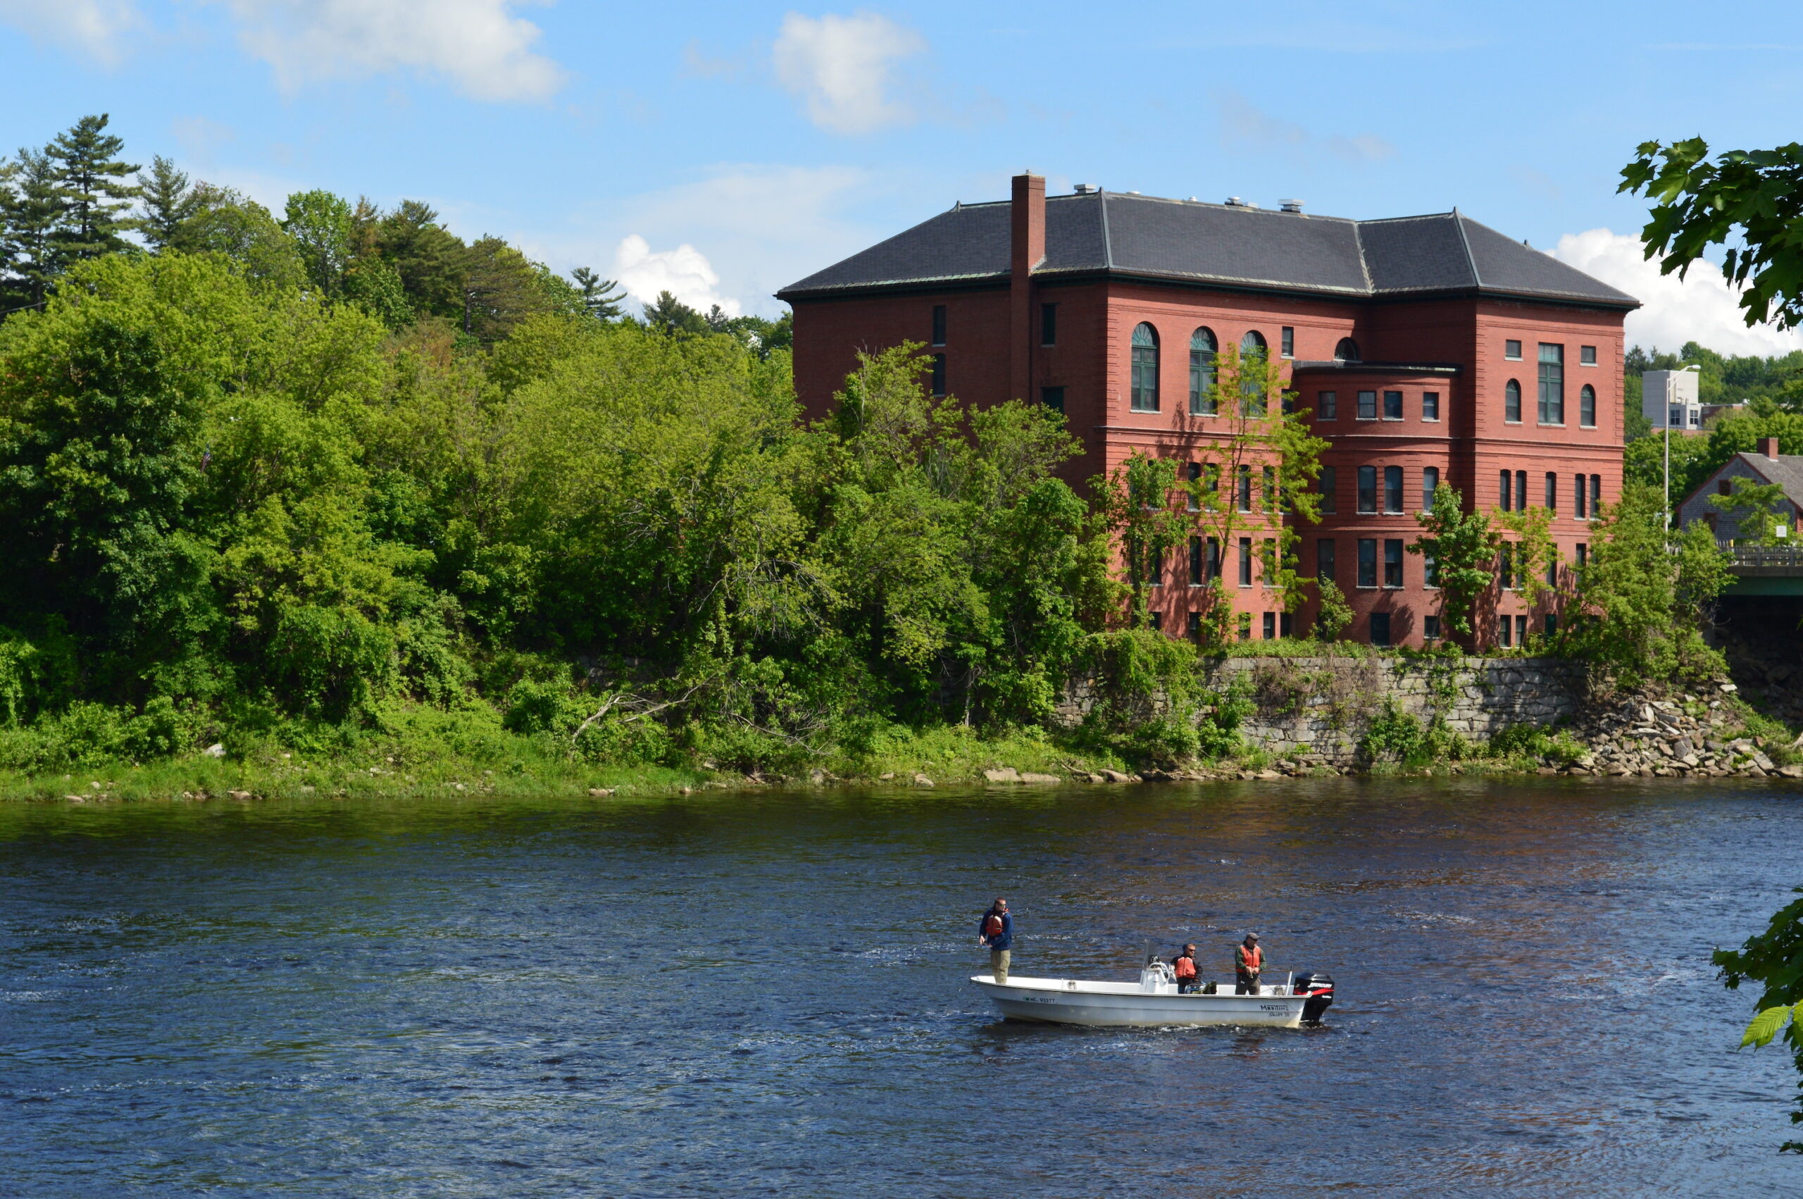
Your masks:
[[[876,13],[819,20],[790,13],[770,59],[777,81],[806,101],[810,121],[833,133],[869,133],[914,119],[889,96],[889,76],[894,61],[925,49],[918,32]]]

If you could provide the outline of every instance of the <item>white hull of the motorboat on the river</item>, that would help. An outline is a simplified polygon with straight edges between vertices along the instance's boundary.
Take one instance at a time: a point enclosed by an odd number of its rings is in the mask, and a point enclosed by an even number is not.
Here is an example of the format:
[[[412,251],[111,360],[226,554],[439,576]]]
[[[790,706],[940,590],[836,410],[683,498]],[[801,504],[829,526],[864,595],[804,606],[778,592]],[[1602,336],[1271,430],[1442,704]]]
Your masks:
[[[1300,1028],[1307,995],[1177,995],[1152,993],[1132,983],[1082,983],[1076,979],[970,977],[1011,1021],[1042,1024],[1089,1024],[1098,1028],[1163,1026],[1262,1026]],[[1266,988],[1277,992],[1278,988]]]

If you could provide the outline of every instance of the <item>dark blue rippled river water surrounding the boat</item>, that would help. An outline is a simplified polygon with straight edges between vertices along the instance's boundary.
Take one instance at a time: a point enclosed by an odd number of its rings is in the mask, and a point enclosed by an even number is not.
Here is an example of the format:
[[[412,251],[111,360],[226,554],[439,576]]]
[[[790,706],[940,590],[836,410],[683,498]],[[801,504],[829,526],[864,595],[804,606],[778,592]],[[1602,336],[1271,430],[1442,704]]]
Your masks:
[[[0,808],[7,1195],[1796,1195],[1709,950],[1796,792],[1322,781]],[[1226,977],[1318,1030],[993,1019]]]

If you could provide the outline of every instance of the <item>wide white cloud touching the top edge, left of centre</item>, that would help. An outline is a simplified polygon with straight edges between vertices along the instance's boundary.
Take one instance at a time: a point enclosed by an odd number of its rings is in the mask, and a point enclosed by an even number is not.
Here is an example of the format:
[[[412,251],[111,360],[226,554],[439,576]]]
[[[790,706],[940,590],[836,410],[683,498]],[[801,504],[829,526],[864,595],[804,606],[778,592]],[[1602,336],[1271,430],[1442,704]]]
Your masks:
[[[474,99],[546,99],[564,72],[534,52],[521,0],[224,0],[243,47],[294,90],[310,79],[411,69]]]

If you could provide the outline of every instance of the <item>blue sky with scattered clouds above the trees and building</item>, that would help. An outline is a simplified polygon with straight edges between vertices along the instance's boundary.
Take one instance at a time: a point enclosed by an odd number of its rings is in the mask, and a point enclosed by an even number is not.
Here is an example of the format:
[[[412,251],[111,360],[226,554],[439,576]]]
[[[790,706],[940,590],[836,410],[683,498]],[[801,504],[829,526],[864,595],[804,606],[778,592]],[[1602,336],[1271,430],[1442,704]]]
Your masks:
[[[1780,4],[0,0],[0,144],[108,112],[133,160],[272,207],[424,198],[554,267],[763,314],[1022,168],[1457,206],[1646,299],[1639,341],[1774,352],[1803,339],[1740,328],[1718,276],[1639,263],[1615,173],[1653,137],[1792,141],[1799,52]]]

